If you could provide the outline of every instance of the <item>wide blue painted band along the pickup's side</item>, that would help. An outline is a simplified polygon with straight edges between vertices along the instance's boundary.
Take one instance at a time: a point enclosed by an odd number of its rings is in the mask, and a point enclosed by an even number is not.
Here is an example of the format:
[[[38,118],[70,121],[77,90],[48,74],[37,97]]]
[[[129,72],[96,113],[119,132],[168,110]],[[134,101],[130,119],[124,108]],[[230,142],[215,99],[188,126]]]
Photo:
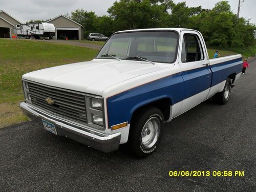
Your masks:
[[[234,65],[238,61],[241,63]],[[239,58],[211,67],[183,71],[109,97],[106,99],[109,128],[125,121],[130,123],[133,112],[140,106],[163,98],[169,98],[172,104],[178,103],[241,71],[242,59]]]

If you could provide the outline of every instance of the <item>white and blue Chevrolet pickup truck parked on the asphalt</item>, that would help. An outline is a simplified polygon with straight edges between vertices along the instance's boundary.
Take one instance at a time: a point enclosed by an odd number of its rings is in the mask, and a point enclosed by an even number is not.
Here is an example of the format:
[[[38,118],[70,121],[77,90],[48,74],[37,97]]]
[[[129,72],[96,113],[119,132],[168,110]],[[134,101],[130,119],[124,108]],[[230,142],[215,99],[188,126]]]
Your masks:
[[[23,75],[20,108],[56,135],[102,152],[128,143],[146,157],[164,122],[212,96],[227,103],[241,71],[241,55],[209,59],[195,30],[119,31],[92,61]]]

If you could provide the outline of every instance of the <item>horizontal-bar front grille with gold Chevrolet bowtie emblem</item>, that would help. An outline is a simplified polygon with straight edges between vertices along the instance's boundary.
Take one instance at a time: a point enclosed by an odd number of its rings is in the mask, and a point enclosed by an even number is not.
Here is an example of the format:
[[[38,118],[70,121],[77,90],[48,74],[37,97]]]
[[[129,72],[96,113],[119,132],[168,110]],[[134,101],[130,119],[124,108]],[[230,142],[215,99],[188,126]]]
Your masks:
[[[83,95],[41,84],[28,84],[33,105],[76,122],[87,122],[86,101]],[[54,103],[49,104],[46,99]]]

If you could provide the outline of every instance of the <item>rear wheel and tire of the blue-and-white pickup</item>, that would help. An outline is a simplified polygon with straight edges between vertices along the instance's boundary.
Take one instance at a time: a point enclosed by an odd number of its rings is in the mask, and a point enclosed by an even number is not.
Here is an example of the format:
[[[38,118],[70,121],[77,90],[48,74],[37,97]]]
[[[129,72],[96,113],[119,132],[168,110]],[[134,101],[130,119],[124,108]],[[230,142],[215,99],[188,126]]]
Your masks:
[[[224,89],[220,93],[216,93],[213,97],[214,101],[218,104],[226,104],[231,94],[231,80],[227,78]]]

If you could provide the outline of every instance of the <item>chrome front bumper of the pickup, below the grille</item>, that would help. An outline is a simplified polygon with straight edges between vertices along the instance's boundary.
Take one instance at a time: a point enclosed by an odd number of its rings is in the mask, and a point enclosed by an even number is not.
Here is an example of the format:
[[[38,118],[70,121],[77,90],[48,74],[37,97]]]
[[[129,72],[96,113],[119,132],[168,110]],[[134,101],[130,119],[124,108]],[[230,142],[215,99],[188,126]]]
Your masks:
[[[53,123],[59,136],[71,138],[105,153],[118,150],[121,133],[106,135],[94,130],[90,130],[89,126],[79,126],[66,120],[46,114],[45,112],[34,108],[26,102],[20,103],[19,106],[25,115],[41,125],[41,119]]]

